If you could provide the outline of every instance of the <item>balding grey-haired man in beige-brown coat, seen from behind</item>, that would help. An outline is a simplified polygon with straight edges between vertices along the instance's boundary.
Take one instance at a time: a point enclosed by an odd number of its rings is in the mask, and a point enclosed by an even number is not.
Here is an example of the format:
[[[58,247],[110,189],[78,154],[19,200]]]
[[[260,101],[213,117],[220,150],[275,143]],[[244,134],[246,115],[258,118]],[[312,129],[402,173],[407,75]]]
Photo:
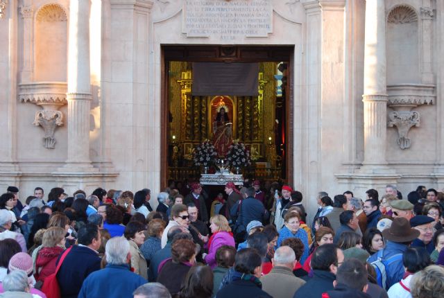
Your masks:
[[[262,290],[273,297],[292,298],[294,293],[305,283],[293,274],[296,255],[289,246],[276,249],[273,258],[273,269],[261,277]]]

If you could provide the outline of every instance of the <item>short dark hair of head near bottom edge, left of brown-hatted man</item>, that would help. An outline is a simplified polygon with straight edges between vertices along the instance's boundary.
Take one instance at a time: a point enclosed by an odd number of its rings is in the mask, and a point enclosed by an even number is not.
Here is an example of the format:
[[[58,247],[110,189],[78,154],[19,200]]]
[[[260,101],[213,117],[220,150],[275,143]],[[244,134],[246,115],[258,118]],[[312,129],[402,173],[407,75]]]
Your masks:
[[[349,258],[338,268],[336,282],[361,291],[368,283],[367,276],[366,266],[357,258]]]

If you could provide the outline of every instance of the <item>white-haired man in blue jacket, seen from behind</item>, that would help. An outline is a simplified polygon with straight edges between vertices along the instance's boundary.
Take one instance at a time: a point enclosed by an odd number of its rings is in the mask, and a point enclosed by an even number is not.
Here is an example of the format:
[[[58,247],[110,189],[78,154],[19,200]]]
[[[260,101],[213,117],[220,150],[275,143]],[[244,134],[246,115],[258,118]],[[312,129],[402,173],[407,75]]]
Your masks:
[[[130,243],[123,237],[108,240],[105,247],[108,265],[92,272],[83,281],[78,298],[107,297],[133,298],[133,292],[146,283],[146,279],[130,271]]]

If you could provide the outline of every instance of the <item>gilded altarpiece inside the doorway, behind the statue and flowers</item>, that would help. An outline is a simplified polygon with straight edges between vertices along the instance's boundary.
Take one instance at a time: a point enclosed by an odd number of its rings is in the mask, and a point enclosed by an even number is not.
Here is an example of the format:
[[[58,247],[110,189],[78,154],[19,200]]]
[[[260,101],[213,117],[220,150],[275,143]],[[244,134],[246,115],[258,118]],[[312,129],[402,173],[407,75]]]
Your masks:
[[[212,103],[220,98],[231,101],[229,117],[233,123],[232,138],[239,139],[250,148],[253,165],[263,166],[268,162],[273,166],[271,144],[275,138],[275,71],[276,63],[259,63],[259,96],[191,96],[191,63],[169,62],[171,179],[199,174],[198,169],[191,167],[192,150],[201,141],[212,139]],[[254,171],[253,168],[251,170]]]

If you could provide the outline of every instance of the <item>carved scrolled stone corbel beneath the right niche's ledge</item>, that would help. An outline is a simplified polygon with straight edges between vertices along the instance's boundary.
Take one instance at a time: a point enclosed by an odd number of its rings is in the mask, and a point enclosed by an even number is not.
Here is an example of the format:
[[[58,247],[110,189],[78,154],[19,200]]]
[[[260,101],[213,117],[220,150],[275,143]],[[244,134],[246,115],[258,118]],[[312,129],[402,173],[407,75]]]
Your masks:
[[[398,145],[401,149],[410,148],[411,140],[407,136],[410,128],[419,126],[419,113],[416,111],[395,111],[388,114],[388,127],[398,128]]]

